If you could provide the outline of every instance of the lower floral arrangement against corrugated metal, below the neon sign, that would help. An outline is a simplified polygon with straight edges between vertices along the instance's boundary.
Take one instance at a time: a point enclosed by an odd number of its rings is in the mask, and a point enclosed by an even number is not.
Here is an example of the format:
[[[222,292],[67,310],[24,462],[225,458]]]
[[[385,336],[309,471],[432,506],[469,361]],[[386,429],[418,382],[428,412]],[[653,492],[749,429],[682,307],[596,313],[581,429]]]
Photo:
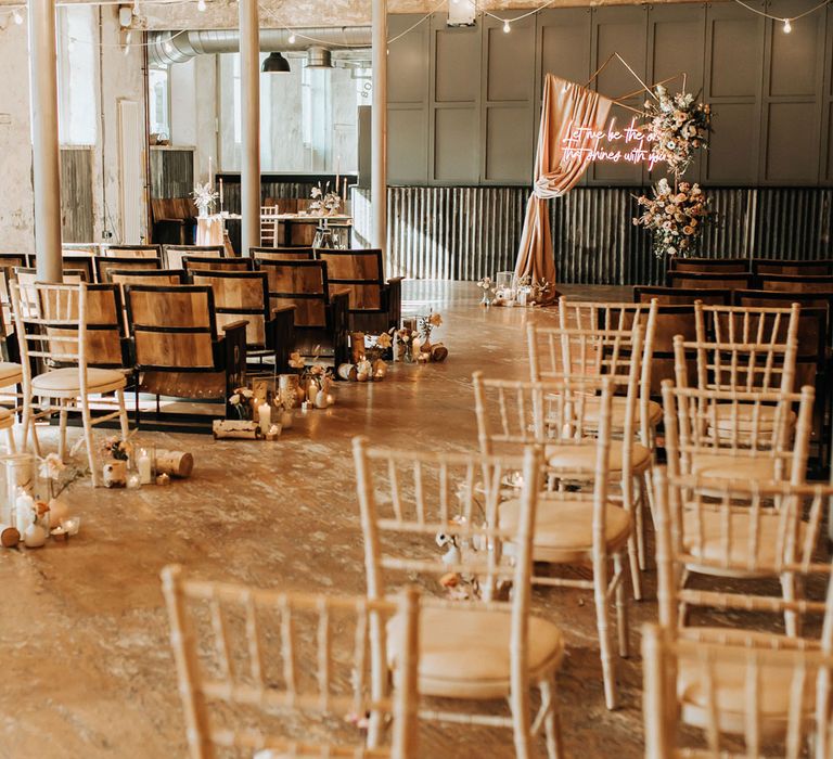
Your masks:
[[[657,257],[687,256],[693,250],[709,216],[708,198],[696,182],[680,182],[672,189],[667,179],[661,179],[654,196],[642,195],[637,203],[642,214],[633,224],[653,233]]]

